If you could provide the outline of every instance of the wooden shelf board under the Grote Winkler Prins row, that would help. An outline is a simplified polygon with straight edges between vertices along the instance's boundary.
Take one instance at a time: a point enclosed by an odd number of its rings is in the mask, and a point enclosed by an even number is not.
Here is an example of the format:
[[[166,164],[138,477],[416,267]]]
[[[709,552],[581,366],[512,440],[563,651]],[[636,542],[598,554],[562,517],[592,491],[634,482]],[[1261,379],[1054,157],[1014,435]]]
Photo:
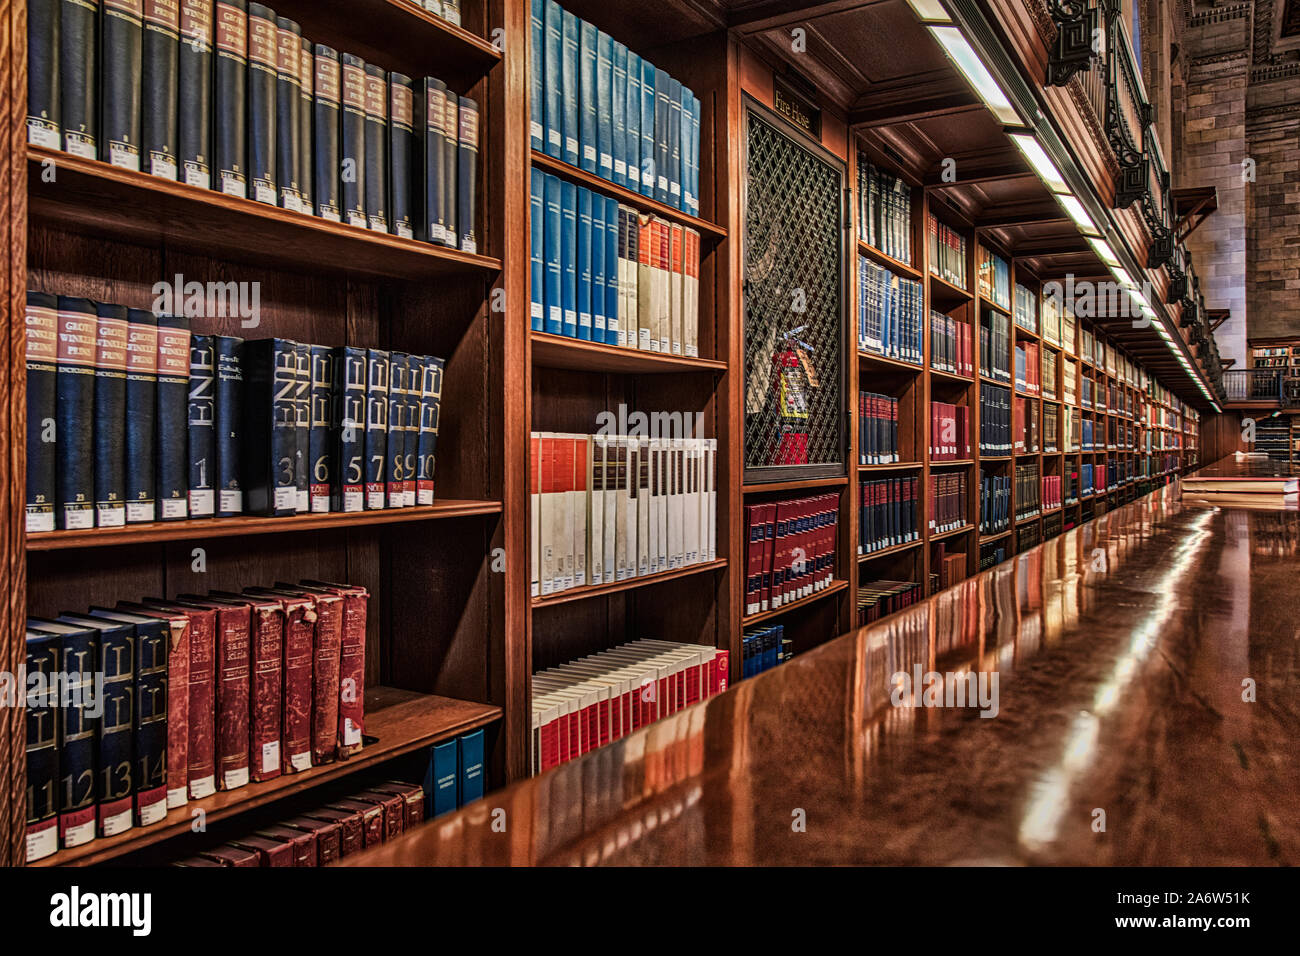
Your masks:
[[[344,514],[332,511],[318,515],[286,518],[196,518],[186,522],[151,522],[122,528],[87,528],[86,531],[47,531],[27,535],[29,551],[58,551],[73,548],[113,548],[117,545],[185,541],[188,538],[235,537],[247,535],[289,535],[333,528],[365,528],[382,524],[432,522],[439,518],[500,514],[499,501],[463,501],[448,498],[417,507],[385,509]]]

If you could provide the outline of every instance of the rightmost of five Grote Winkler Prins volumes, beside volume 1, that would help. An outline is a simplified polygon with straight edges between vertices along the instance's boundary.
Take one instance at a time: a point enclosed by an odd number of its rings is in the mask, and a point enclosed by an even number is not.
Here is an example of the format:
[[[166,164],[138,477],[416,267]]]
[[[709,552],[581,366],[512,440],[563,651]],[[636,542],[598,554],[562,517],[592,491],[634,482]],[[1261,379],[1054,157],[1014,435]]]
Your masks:
[[[156,499],[164,522],[188,515],[190,320],[159,316]]]

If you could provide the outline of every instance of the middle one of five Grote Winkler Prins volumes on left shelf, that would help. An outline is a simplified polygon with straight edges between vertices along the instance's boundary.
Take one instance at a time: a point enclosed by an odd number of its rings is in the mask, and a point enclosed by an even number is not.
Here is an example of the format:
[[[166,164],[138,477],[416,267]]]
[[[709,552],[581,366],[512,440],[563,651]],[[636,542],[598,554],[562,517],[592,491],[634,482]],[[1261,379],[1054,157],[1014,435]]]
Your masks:
[[[95,524],[126,524],[126,338],[125,306],[100,303],[95,323]]]

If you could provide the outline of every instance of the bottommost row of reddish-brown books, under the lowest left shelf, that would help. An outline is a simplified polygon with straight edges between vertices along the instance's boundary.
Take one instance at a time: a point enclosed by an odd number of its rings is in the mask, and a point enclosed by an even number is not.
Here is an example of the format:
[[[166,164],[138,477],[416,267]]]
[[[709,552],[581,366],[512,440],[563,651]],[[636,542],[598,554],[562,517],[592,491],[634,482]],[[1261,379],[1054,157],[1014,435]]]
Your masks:
[[[424,822],[424,787],[387,780],[173,865],[329,866],[400,836]]]

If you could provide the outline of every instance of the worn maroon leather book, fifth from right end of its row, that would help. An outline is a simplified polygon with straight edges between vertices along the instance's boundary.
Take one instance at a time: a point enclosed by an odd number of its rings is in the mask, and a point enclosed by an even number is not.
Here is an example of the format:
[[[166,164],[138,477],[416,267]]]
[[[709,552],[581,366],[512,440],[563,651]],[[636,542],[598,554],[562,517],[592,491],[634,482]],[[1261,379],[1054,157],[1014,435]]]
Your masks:
[[[248,783],[251,607],[199,594],[181,600],[217,611],[217,790]]]

